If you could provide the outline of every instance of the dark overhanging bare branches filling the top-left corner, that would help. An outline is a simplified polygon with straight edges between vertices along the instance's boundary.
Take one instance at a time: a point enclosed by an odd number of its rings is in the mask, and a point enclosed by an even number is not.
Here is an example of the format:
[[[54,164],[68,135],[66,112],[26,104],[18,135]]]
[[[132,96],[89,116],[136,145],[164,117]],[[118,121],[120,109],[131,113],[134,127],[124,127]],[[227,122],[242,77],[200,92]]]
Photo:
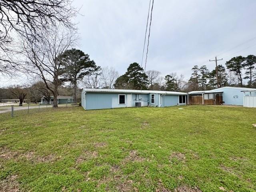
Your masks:
[[[15,67],[15,40],[40,38],[49,26],[59,24],[75,28],[72,22],[77,11],[72,0],[2,0],[0,1],[0,72]]]

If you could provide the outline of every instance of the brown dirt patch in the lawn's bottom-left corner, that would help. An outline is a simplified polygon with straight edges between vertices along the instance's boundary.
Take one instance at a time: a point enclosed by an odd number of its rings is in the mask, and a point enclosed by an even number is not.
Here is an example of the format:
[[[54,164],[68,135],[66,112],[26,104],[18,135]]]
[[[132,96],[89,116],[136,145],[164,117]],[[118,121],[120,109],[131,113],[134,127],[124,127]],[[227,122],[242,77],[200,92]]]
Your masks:
[[[4,192],[18,192],[19,183],[16,181],[18,175],[8,176],[0,182],[0,191]]]

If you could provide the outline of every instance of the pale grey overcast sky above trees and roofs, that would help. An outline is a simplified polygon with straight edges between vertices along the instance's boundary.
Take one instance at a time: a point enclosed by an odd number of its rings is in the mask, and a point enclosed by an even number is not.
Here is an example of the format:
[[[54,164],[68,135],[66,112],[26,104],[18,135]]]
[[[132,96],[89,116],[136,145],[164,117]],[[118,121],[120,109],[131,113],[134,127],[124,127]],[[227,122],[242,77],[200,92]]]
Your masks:
[[[74,0],[82,6],[78,48],[97,65],[124,74],[130,63],[141,63],[148,5],[149,0]],[[208,60],[216,55],[223,65],[234,56],[256,55],[255,8],[256,0],[154,0],[146,70],[188,79],[194,65],[212,70]]]

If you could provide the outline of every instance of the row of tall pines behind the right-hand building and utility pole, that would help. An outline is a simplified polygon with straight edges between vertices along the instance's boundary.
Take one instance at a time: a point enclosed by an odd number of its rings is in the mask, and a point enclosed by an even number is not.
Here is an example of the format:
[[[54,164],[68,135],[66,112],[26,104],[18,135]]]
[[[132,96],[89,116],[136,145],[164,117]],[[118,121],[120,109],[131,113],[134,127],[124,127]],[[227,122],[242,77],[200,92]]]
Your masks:
[[[216,68],[210,71],[205,65],[195,65],[188,80],[188,89],[211,90],[223,86],[256,88],[256,56],[236,56],[225,65],[218,65],[218,80]]]

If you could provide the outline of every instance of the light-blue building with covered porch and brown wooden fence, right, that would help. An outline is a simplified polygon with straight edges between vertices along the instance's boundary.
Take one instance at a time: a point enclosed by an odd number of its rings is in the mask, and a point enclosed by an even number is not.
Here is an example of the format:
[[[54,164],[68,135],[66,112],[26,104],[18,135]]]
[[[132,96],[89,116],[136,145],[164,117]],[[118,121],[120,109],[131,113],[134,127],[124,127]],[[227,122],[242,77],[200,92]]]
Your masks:
[[[255,90],[245,87],[221,87],[208,91],[189,92],[189,104],[198,104],[196,101],[202,100],[203,105],[243,105],[244,91]],[[255,92],[256,94],[256,92]]]

